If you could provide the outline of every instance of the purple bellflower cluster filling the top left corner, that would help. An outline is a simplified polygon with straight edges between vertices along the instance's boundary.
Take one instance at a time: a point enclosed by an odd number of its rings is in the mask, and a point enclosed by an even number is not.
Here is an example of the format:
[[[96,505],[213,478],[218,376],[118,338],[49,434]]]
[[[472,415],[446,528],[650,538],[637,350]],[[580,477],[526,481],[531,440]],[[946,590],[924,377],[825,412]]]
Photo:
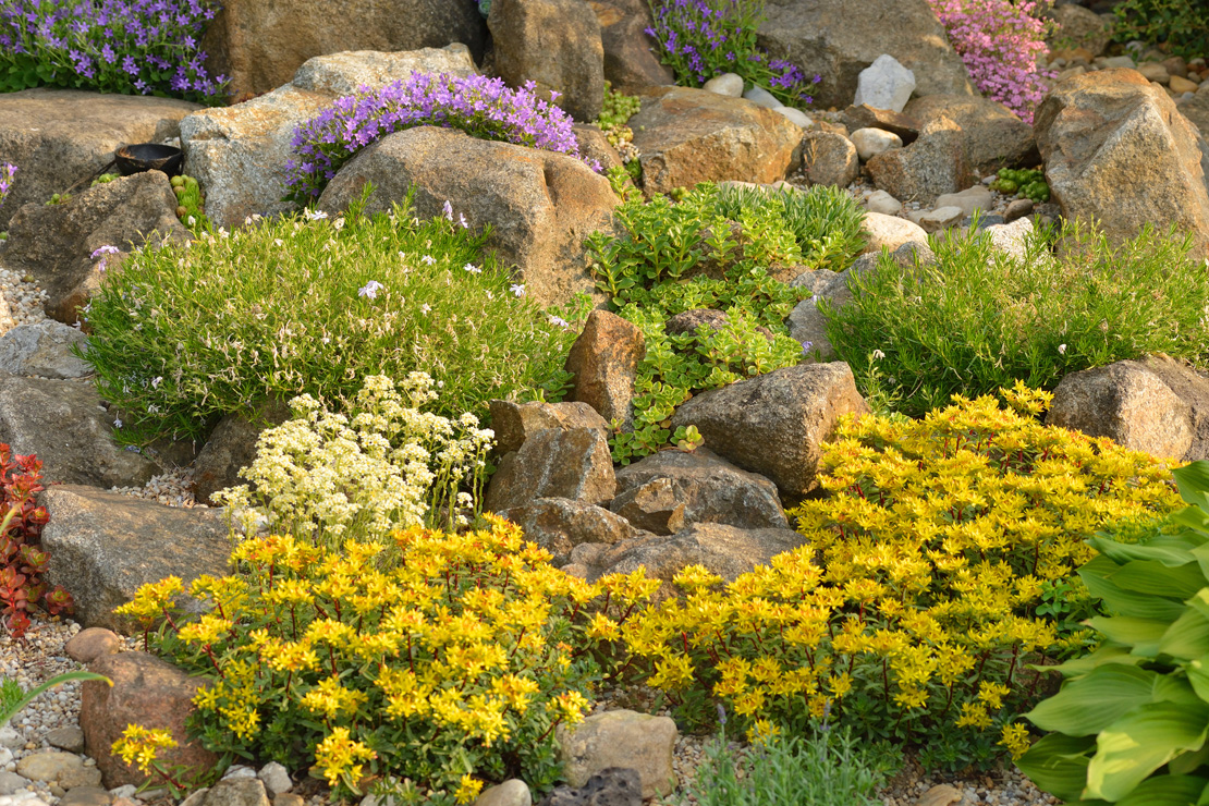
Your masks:
[[[214,0],[5,0],[0,91],[75,87],[215,104],[199,40]]]

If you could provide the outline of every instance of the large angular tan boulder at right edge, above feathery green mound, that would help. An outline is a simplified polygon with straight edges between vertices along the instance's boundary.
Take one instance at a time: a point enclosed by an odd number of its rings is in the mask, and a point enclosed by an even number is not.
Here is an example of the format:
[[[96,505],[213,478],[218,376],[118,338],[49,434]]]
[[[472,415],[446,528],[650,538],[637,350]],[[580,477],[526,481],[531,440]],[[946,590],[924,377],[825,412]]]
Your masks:
[[[1209,145],[1167,92],[1135,70],[1072,76],[1037,108],[1046,180],[1068,219],[1095,219],[1113,242],[1151,224],[1209,255]]]

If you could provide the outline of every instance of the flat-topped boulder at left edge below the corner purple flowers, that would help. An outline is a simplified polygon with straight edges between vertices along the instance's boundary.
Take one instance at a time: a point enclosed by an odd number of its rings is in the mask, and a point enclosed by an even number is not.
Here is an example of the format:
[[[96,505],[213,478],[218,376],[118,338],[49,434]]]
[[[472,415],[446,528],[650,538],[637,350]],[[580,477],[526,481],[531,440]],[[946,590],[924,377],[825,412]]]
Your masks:
[[[77,89],[0,93],[0,160],[18,168],[0,205],[0,230],[23,204],[87,187],[118,146],[177,137],[180,118],[197,109],[184,100]]]

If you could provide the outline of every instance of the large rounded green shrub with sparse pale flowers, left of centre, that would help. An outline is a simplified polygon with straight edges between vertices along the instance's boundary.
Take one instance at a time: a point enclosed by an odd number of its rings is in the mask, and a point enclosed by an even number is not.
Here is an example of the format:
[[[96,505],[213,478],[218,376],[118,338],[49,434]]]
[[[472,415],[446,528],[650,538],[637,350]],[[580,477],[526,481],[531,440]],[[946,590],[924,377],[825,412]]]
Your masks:
[[[453,416],[561,392],[574,332],[482,253],[486,234],[418,221],[410,201],[357,209],[137,251],[106,278],[82,355],[127,413],[123,439],[196,437],[265,398],[351,396],[368,375],[427,372]]]

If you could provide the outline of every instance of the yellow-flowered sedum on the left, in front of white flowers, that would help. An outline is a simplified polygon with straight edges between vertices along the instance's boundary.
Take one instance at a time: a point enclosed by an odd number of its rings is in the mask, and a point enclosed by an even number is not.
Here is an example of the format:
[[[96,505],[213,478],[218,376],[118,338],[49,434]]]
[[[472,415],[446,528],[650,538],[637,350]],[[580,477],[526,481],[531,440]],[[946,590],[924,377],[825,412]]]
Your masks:
[[[641,573],[589,584],[549,559],[494,517],[340,551],[272,535],[236,547],[235,574],[190,586],[208,604],[195,621],[172,604],[177,578],[118,611],[209,678],[190,726],[225,762],[313,764],[341,794],[374,779],[399,802],[469,804],[510,777],[554,784],[554,731],[582,719],[601,673],[582,651],[590,610],[612,604],[624,622],[658,585]]]

